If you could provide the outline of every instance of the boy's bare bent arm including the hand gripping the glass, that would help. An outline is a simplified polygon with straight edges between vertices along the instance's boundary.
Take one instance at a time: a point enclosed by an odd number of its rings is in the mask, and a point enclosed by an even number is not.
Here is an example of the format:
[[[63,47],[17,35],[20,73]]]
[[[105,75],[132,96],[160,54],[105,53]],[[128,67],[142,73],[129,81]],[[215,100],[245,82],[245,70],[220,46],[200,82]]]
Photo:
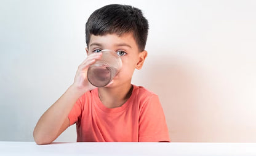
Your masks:
[[[94,89],[87,80],[87,69],[89,65],[94,64],[102,53],[90,54],[87,59],[78,67],[74,83],[50,108],[42,114],[38,124],[34,127],[34,141],[37,144],[50,144],[67,127],[70,126],[68,114],[73,108],[74,103],[87,91]]]

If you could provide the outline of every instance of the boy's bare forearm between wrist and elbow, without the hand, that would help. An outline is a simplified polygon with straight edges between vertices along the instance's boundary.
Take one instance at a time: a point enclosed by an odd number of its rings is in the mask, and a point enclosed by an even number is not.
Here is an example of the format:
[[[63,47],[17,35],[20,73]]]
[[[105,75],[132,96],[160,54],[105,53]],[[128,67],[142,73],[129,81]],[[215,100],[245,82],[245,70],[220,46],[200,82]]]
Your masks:
[[[34,128],[33,135],[36,143],[51,143],[57,138],[68,113],[82,94],[84,94],[84,91],[79,91],[76,87],[70,86],[62,97],[42,114]]]

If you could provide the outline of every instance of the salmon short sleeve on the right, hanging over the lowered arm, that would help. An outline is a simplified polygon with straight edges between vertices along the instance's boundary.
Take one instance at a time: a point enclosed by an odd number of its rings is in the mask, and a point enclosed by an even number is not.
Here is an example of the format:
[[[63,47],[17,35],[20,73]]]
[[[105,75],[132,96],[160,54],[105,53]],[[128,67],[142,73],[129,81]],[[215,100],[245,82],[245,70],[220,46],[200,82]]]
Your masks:
[[[143,104],[139,119],[139,142],[170,142],[164,111],[158,95],[153,94]]]

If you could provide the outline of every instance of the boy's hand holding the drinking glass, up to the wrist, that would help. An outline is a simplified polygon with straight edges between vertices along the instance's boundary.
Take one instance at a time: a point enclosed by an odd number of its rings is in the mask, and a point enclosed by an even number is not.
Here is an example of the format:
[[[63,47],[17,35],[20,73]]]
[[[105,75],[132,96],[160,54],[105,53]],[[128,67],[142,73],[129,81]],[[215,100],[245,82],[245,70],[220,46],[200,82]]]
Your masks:
[[[82,64],[78,66],[78,70],[76,72],[76,76],[74,77],[74,83],[72,84],[77,89],[87,92],[92,89],[95,89],[95,86],[92,86],[92,84],[89,83],[87,80],[87,70],[90,65],[94,64],[95,61],[100,59],[102,57],[102,53],[93,53],[90,54]]]

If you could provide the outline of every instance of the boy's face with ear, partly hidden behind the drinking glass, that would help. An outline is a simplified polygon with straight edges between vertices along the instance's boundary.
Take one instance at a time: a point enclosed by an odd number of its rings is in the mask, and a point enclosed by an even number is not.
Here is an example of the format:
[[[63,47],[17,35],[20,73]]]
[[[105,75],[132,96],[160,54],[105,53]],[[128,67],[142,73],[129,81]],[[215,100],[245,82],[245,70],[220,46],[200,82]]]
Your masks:
[[[113,83],[107,87],[130,84],[135,69],[141,69],[147,52],[138,50],[132,33],[118,36],[116,34],[91,35],[87,54],[97,53],[100,50],[112,50],[119,54],[122,68],[114,77]]]

